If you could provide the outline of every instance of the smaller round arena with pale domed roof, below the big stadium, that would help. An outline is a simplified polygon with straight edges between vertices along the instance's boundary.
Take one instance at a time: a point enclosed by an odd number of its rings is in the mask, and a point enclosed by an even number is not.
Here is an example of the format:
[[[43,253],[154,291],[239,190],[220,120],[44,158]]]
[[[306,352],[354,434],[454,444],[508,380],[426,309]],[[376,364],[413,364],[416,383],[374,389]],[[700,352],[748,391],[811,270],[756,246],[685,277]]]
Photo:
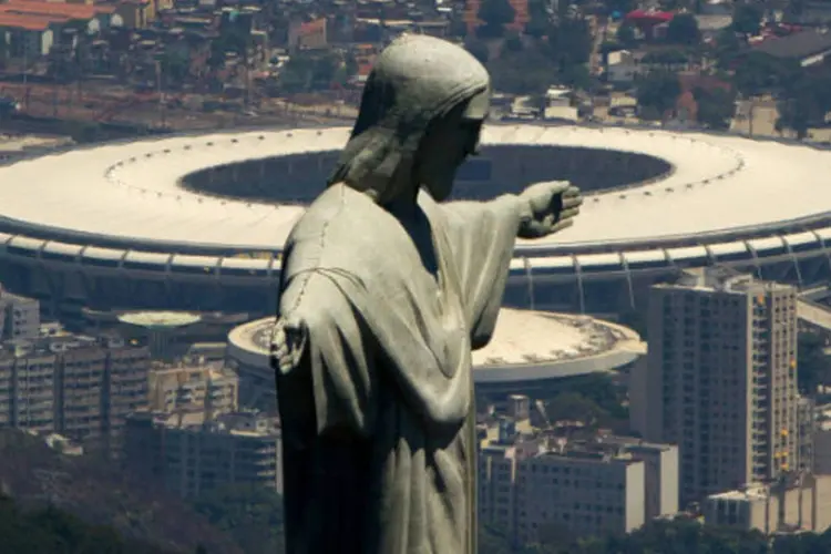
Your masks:
[[[227,358],[240,377],[240,396],[264,408],[276,398],[269,345],[274,318],[234,328]],[[500,312],[491,342],[473,352],[476,393],[493,399],[505,394],[545,392],[563,379],[627,370],[645,345],[632,329],[595,319],[506,308]]]

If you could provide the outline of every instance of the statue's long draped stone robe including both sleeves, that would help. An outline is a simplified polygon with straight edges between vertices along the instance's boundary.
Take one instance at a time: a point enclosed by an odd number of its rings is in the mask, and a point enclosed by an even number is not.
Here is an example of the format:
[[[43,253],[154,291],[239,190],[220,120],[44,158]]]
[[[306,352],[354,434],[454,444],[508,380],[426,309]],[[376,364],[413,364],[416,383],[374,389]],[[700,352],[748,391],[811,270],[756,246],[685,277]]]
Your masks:
[[[288,554],[475,554],[471,350],[494,330],[519,202],[418,204],[438,279],[345,185],[286,245],[278,315],[307,332],[277,376]]]

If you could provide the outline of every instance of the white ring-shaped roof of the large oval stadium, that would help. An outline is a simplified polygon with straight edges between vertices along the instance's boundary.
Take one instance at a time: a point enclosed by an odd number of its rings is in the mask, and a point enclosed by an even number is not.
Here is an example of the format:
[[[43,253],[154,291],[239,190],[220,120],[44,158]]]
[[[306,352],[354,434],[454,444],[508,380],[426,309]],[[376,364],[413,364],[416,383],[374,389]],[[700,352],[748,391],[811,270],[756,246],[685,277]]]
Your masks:
[[[127,242],[273,249],[300,207],[203,196],[177,181],[211,165],[336,150],[349,130],[255,131],[81,148],[0,167],[0,217]],[[831,208],[831,153],[736,136],[574,126],[492,125],[485,144],[586,146],[670,162],[667,178],[586,202],[550,244],[625,243],[756,227]],[[275,175],[275,187],[280,178]],[[322,183],[321,183],[322,188]],[[537,243],[540,244],[540,243]]]

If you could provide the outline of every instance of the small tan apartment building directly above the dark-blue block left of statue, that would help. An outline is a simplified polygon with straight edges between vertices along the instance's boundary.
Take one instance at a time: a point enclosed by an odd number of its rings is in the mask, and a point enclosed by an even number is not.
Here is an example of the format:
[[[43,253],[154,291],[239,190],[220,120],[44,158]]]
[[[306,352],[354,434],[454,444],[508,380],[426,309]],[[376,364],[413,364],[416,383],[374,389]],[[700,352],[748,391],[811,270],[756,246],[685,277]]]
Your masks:
[[[239,378],[215,363],[178,363],[150,372],[150,409],[172,413],[207,407],[212,413],[237,411]]]

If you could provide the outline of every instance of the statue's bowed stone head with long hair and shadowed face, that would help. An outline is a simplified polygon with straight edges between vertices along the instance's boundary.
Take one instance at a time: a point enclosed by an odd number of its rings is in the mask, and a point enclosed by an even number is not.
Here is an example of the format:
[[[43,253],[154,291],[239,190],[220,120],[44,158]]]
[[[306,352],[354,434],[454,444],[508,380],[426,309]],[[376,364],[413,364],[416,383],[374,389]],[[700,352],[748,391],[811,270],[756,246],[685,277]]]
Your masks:
[[[488,71],[441,39],[404,35],[378,57],[358,121],[330,183],[345,182],[387,203],[424,186],[435,199],[476,152],[490,110]]]

